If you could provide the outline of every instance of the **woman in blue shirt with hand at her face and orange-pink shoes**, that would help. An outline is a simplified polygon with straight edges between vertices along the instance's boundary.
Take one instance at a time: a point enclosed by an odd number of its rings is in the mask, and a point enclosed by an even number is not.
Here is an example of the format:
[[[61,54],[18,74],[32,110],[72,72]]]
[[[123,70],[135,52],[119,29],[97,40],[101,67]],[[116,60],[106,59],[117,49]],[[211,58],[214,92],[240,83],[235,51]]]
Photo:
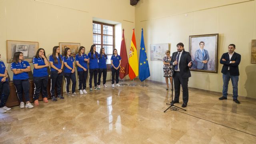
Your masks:
[[[39,48],[36,52],[36,56],[33,58],[33,79],[34,79],[34,105],[38,106],[39,93],[42,90],[42,97],[44,102],[48,102],[47,99],[47,86],[48,86],[48,70],[49,62],[46,58],[45,51],[43,48]]]

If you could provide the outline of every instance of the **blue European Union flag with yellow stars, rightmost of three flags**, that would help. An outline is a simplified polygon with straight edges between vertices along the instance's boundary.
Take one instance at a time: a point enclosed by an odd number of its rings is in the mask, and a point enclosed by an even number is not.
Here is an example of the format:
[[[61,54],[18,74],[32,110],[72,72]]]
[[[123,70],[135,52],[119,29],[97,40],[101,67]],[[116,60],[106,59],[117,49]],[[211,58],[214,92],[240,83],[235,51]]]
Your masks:
[[[141,29],[141,40],[140,40],[140,61],[139,61],[139,78],[140,81],[146,80],[150,76],[148,58],[146,48],[144,44],[143,28]]]

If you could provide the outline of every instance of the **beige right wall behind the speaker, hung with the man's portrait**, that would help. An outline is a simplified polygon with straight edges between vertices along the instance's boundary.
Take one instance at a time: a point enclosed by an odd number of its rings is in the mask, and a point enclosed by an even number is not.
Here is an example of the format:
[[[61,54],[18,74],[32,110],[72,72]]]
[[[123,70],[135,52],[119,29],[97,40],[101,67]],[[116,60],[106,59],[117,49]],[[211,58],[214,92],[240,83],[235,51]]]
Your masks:
[[[172,53],[176,52],[176,44],[183,42],[188,51],[189,36],[218,33],[218,63],[220,56],[228,52],[228,44],[236,44],[236,52],[242,55],[238,95],[256,98],[256,65],[250,64],[251,40],[256,39],[255,0],[140,0],[135,13],[137,42],[138,30],[144,28],[151,72],[148,79],[165,82],[162,62],[150,61],[150,44],[170,43]],[[188,85],[222,92],[221,69],[218,64],[218,73],[192,71]],[[231,82],[228,93],[232,94]]]

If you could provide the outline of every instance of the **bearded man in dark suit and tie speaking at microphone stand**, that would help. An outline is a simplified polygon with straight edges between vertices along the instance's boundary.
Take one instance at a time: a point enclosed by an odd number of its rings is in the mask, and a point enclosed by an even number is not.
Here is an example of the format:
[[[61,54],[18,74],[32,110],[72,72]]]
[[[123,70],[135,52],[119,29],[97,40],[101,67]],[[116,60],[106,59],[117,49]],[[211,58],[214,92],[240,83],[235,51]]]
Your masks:
[[[177,44],[177,51],[172,53],[170,64],[174,66],[174,90],[175,97],[173,103],[179,103],[180,84],[183,90],[183,104],[185,108],[188,104],[188,78],[191,77],[189,68],[192,66],[192,60],[189,52],[185,52],[184,44]]]

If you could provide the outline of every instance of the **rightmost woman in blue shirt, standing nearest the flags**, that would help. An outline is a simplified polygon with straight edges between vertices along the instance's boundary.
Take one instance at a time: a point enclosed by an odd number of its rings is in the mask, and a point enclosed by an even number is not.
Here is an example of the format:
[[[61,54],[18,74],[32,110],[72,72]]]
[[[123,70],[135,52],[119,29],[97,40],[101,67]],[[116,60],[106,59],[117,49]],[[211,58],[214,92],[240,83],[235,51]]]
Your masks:
[[[112,71],[112,87],[114,88],[115,85],[115,75],[116,75],[116,86],[120,86],[118,84],[119,82],[119,71],[120,71],[120,65],[121,65],[121,56],[118,55],[117,50],[114,48],[113,55],[111,56],[111,71]]]

